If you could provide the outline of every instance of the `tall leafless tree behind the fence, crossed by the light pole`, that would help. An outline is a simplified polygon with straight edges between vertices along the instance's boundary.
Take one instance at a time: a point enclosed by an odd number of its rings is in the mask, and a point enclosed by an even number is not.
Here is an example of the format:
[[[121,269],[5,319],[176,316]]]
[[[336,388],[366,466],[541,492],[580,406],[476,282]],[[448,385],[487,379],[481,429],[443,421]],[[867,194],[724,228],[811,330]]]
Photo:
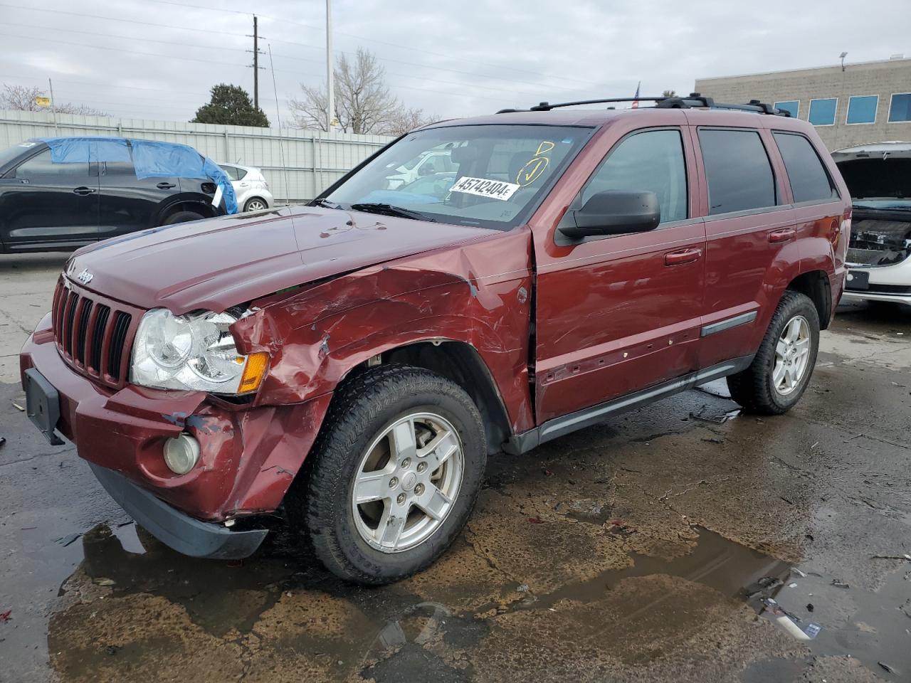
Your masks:
[[[385,69],[362,47],[353,58],[339,57],[334,69],[335,119],[346,133],[406,132],[429,122],[421,109],[406,109],[385,85]],[[326,129],[326,88],[301,84],[302,99],[291,100],[297,127]],[[415,126],[410,124],[415,123]]]

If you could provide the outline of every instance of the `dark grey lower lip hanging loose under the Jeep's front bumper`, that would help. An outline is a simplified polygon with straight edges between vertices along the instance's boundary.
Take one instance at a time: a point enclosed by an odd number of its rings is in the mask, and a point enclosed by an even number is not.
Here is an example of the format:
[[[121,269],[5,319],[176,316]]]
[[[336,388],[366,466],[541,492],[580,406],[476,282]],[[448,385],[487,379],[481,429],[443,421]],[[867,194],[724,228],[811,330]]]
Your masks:
[[[267,529],[232,531],[200,522],[171,507],[123,474],[89,463],[98,482],[136,523],[163,544],[191,557],[241,559],[251,556],[268,534]]]

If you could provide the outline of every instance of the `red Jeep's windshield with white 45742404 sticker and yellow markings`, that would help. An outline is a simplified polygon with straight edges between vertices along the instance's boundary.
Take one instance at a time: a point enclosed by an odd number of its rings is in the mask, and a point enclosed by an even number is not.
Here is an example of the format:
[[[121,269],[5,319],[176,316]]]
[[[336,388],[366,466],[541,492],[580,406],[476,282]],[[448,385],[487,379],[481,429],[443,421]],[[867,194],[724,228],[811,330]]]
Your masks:
[[[418,130],[385,149],[324,199],[342,209],[388,205],[406,209],[413,214],[409,218],[513,228],[537,208],[593,131],[507,125]],[[396,173],[431,151],[439,163],[423,164],[415,178]]]

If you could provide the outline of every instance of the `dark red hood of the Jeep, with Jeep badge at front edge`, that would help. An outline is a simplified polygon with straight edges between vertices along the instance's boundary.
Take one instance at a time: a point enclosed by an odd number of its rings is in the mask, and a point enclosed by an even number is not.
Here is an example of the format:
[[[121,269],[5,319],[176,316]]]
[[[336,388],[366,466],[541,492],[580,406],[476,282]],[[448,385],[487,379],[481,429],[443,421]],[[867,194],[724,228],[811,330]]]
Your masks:
[[[492,236],[492,230],[316,207],[148,229],[78,250],[67,277],[142,308],[223,311],[287,287]],[[87,270],[91,280],[77,275]]]

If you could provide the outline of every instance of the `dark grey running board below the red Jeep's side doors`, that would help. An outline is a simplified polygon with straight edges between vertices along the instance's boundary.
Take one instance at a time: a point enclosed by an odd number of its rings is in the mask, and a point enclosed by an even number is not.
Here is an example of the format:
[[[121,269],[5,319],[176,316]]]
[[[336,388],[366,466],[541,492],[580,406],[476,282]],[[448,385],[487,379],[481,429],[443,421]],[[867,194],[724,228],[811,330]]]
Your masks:
[[[527,453],[541,443],[547,443],[578,429],[601,423],[611,415],[626,413],[643,405],[659,401],[662,398],[673,396],[675,393],[692,389],[694,386],[746,370],[750,367],[750,363],[752,363],[752,356],[732,358],[730,361],[720,362],[699,372],[685,374],[675,380],[670,380],[670,382],[656,384],[639,392],[628,393],[625,396],[620,396],[606,403],[599,403],[576,413],[555,417],[527,432],[510,436],[507,443],[503,444],[503,450],[513,455]]]

